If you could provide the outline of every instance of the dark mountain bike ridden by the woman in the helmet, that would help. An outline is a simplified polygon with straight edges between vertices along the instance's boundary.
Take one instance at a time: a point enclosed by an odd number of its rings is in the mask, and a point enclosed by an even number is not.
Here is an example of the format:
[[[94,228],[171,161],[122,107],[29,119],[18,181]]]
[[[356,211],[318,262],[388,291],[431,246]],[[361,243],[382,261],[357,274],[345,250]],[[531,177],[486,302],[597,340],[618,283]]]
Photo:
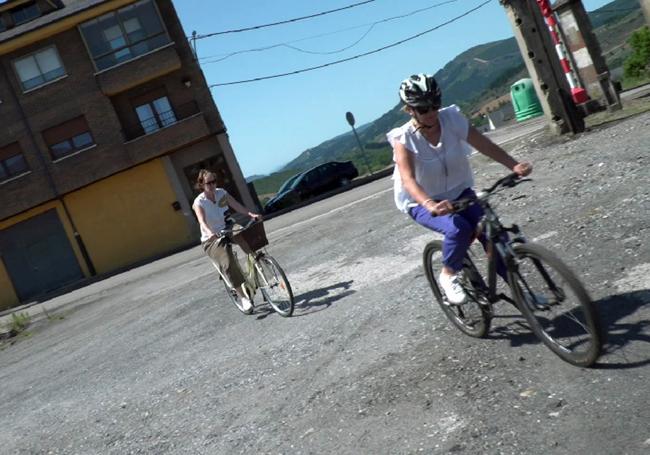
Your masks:
[[[488,201],[500,191],[526,181],[530,179],[510,174],[478,192],[475,198],[452,203],[454,212],[471,204],[479,204],[484,211],[475,240],[483,236],[487,254],[481,252],[479,256],[476,248],[470,248],[463,259],[459,281],[467,294],[464,303],[450,303],[437,281],[442,267],[442,242],[438,240],[429,242],[424,249],[427,279],[445,316],[465,334],[485,337],[493,305],[504,300],[519,309],[533,333],[561,359],[576,366],[590,366],[600,355],[602,333],[589,294],[555,254],[528,242],[516,224],[504,226]],[[481,261],[487,262],[486,274],[477,267]],[[510,296],[497,292],[497,261],[505,265]]]

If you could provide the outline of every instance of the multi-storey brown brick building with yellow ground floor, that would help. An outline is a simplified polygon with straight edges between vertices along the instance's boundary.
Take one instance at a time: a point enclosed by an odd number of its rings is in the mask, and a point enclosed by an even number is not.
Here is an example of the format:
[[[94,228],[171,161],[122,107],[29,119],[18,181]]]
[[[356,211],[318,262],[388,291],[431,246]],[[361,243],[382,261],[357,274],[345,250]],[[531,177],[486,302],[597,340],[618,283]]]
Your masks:
[[[171,0],[0,2],[0,309],[196,242],[253,200]]]

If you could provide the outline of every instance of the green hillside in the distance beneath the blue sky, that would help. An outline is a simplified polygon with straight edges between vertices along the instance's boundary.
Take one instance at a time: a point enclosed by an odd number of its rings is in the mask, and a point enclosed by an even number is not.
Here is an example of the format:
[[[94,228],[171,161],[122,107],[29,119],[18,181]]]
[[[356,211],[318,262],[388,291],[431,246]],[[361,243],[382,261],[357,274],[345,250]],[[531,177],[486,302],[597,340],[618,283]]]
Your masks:
[[[589,17],[610,70],[620,67],[629,55],[627,37],[644,25],[638,0],[615,0],[589,13]],[[528,73],[515,39],[508,38],[461,53],[434,76],[442,89],[443,105],[458,104],[466,114],[471,114],[488,101],[509,93],[510,86],[528,77]],[[255,189],[263,199],[293,174],[333,160],[352,160],[361,174],[368,171],[366,163],[373,171],[382,169],[392,162],[386,132],[407,120],[408,115],[398,104],[357,128],[365,153],[359,150],[351,132],[342,134],[305,150],[279,172],[256,179]]]

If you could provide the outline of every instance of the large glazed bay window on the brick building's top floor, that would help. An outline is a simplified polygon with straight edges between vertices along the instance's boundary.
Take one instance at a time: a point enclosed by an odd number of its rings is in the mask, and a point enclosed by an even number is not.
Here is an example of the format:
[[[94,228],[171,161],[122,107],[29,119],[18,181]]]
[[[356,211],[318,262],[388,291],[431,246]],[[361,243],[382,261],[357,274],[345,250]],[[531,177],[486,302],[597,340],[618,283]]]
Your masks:
[[[97,70],[103,70],[170,42],[152,0],[143,0],[81,25]]]

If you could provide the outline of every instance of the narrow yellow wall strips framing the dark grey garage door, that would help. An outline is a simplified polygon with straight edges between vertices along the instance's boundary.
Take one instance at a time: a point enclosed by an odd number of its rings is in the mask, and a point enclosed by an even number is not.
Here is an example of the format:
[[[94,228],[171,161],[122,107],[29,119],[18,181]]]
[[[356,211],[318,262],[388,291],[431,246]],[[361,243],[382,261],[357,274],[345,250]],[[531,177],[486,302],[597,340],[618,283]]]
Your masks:
[[[8,218],[4,221],[0,221],[0,230],[6,229],[10,226],[13,226],[16,223],[20,223],[21,221],[25,221],[29,218],[40,215],[41,213],[46,212],[47,210],[50,209],[56,209],[59,215],[59,220],[61,220],[61,223],[63,224],[63,229],[65,229],[65,233],[68,236],[68,240],[70,240],[70,245],[72,246],[72,250],[74,251],[74,254],[77,257],[77,262],[79,262],[79,265],[81,266],[81,271],[85,276],[90,276],[90,272],[86,267],[86,263],[84,262],[83,257],[81,256],[81,251],[79,250],[79,246],[77,245],[77,242],[74,239],[74,232],[72,230],[72,226],[70,226],[68,217],[65,215],[65,211],[63,210],[63,205],[61,205],[59,201],[47,202],[43,205],[39,205],[38,207],[34,207],[26,212],[23,212],[20,215],[16,215],[12,218]],[[2,263],[2,261],[0,261],[0,310],[12,306],[16,306],[19,303],[20,302],[18,300],[18,296],[14,291],[13,284],[9,279],[9,274],[7,273],[7,270],[4,264]]]

